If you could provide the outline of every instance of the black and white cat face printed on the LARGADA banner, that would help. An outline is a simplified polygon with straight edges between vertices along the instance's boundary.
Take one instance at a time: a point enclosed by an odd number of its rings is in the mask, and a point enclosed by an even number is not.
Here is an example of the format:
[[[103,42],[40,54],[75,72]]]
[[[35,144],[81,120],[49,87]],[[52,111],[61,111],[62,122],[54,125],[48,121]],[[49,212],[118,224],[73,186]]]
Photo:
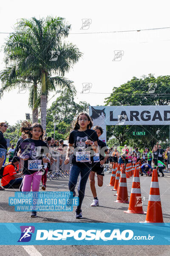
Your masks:
[[[95,109],[91,107],[92,114],[91,120],[93,121],[93,125],[105,125],[105,108],[103,109]]]

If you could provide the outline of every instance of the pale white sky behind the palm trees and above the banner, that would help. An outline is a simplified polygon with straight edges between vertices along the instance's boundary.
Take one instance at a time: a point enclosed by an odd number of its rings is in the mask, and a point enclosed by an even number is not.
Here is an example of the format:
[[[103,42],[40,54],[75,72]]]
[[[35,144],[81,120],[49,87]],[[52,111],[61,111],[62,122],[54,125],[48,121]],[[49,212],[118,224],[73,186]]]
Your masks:
[[[0,2],[0,32],[12,32],[21,18],[57,16],[71,24],[68,41],[76,44],[83,57],[65,77],[74,81],[76,102],[104,105],[113,86],[143,75],[170,75],[170,29],[140,32],[94,33],[169,27],[170,2],[168,0],[6,0]],[[88,29],[81,29],[82,19],[90,19]],[[93,33],[92,33],[93,32]],[[84,34],[80,34],[84,33]],[[8,34],[0,34],[0,47]],[[113,61],[114,51],[122,51],[120,61]],[[3,69],[3,50],[0,52],[0,70]],[[82,94],[82,84],[90,83],[89,93]],[[51,93],[49,99],[55,93]],[[48,107],[57,98],[54,96]],[[0,122],[14,124],[26,119],[28,90],[19,88],[4,93],[0,99]]]

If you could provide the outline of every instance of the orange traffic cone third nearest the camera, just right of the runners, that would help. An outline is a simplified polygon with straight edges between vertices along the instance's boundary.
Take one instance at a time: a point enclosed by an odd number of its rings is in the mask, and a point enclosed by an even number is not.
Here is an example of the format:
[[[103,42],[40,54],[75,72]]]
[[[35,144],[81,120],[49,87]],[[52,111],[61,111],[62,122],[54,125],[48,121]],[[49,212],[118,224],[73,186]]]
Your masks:
[[[127,194],[127,183],[126,183],[126,173],[125,173],[125,166],[122,168],[122,175],[120,179],[120,184],[119,184],[119,191],[117,195],[117,199],[115,203],[123,203],[123,204],[128,204],[128,194]]]

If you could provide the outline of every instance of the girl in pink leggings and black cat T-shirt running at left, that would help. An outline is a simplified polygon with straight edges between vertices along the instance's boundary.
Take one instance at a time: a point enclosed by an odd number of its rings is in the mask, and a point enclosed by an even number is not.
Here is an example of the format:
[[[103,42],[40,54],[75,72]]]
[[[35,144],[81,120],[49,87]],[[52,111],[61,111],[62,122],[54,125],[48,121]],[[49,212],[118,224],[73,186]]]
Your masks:
[[[24,160],[23,168],[23,187],[22,192],[39,191],[40,180],[42,177],[41,170],[44,169],[43,162],[47,163],[48,159],[44,156],[48,154],[47,144],[42,141],[43,129],[39,123],[33,125],[27,121],[22,122],[21,131],[28,135],[28,139],[23,140],[20,144],[20,150],[17,156]],[[30,217],[37,217],[37,212],[31,212]]]

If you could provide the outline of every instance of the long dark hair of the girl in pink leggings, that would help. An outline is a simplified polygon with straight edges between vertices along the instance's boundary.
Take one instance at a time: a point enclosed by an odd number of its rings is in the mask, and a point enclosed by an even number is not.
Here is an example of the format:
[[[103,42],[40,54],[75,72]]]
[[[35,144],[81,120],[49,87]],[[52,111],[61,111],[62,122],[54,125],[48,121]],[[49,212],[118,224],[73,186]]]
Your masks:
[[[42,138],[44,135],[44,131],[43,131],[42,125],[40,123],[31,124],[28,121],[23,121],[21,123],[20,131],[23,132],[24,134],[28,134],[28,138],[32,138],[31,131],[36,127],[41,128],[42,135],[40,135],[39,140],[43,140]]]

